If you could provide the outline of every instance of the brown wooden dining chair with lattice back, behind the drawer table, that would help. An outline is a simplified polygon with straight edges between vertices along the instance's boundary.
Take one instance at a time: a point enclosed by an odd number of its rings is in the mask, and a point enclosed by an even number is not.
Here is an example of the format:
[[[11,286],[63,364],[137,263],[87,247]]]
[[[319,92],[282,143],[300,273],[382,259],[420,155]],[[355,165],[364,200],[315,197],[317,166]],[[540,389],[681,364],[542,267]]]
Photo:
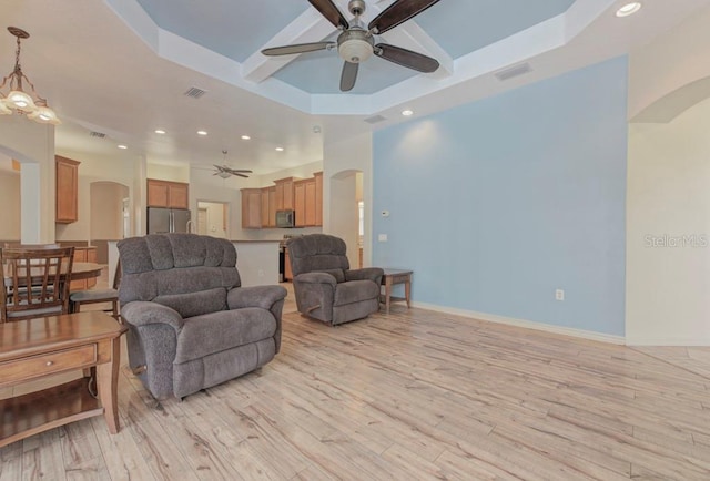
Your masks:
[[[0,249],[0,321],[69,313],[73,247]]]

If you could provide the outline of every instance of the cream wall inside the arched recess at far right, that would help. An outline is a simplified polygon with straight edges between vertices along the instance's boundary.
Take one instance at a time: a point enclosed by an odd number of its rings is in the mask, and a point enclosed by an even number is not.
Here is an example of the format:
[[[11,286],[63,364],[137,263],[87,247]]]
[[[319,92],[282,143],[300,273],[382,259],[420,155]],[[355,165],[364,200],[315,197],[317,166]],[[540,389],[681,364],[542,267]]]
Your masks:
[[[631,124],[627,191],[630,345],[710,345],[710,100]]]

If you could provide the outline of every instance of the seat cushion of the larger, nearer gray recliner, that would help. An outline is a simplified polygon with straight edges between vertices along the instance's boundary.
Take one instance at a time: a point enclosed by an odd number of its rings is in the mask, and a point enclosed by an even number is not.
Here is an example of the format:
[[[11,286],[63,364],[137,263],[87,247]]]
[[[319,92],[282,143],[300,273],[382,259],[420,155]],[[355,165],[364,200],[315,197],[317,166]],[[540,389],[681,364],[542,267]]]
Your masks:
[[[199,359],[236,346],[273,337],[276,319],[266,309],[245,307],[185,319],[174,364]]]

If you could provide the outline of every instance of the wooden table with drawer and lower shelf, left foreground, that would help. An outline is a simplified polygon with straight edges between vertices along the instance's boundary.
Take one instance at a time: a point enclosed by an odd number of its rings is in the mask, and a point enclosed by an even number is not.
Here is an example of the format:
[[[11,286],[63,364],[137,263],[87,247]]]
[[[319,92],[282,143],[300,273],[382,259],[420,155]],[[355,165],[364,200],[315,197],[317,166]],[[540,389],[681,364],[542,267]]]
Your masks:
[[[103,311],[0,324],[0,388],[95,367],[98,399],[81,378],[0,400],[0,447],[92,416],[119,431],[120,338],[126,331]]]

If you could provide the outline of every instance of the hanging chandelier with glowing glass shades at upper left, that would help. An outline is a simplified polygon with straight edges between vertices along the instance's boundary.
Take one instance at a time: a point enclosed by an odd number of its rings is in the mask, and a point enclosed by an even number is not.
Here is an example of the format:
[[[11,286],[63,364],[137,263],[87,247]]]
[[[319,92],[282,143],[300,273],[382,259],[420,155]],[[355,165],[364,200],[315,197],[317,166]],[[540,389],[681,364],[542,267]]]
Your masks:
[[[9,115],[13,112],[26,114],[28,119],[34,122],[59,125],[61,122],[57,119],[57,114],[47,105],[47,99],[40,96],[34,90],[34,85],[30,79],[22,73],[20,66],[20,41],[29,39],[30,34],[17,27],[8,27],[8,31],[17,37],[18,49],[14,52],[14,69],[2,79],[0,84],[0,115]],[[31,91],[24,91],[23,86],[29,85]],[[8,88],[7,93],[3,91]],[[27,86],[24,86],[27,89]]]

